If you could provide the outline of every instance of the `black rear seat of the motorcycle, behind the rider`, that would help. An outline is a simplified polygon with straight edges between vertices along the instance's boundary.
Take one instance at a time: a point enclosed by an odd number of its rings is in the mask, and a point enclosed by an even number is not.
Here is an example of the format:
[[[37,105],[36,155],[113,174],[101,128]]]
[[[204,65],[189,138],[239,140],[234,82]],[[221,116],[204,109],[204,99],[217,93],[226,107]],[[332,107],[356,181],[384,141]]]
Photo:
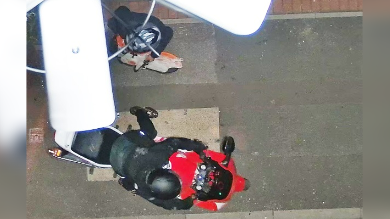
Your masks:
[[[77,132],[72,151],[98,164],[110,164],[112,144],[120,136],[109,128]]]

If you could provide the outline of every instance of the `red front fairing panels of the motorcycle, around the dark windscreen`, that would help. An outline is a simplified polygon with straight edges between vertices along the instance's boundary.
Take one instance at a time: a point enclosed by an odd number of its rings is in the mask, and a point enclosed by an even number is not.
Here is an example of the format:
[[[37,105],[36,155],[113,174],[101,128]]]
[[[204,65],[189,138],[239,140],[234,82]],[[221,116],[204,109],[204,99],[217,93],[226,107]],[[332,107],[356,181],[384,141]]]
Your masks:
[[[218,162],[218,164],[221,164],[226,157],[223,153],[210,150],[205,150],[205,154],[206,156],[211,157],[212,160]],[[171,169],[178,174],[182,181],[182,190],[180,193],[181,199],[186,199],[196,193],[195,190],[192,189],[192,184],[195,182],[198,164],[200,163],[203,163],[203,161],[199,158],[199,155],[193,151],[179,150],[169,158],[169,164],[166,168]],[[233,176],[233,182],[229,194],[227,194],[226,198],[222,200],[196,200],[194,201],[195,206],[211,211],[217,211],[223,208],[232,199],[234,193],[244,190],[245,179],[237,175],[233,159],[230,160],[227,168],[223,165],[220,165],[220,167],[229,171]]]

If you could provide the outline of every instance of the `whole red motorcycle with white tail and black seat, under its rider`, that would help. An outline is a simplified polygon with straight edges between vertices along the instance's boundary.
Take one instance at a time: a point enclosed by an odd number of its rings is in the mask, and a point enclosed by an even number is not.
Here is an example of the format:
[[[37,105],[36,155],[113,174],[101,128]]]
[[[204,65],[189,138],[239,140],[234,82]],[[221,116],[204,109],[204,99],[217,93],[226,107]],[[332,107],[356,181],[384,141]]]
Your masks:
[[[57,131],[54,140],[60,148],[48,152],[56,159],[89,166],[90,170],[111,168],[109,156],[112,144],[121,134],[111,126],[82,132]],[[156,137],[154,140],[160,142],[165,138]],[[195,194],[195,206],[217,211],[226,206],[233,194],[250,187],[249,180],[237,174],[231,158],[234,148],[234,139],[228,136],[222,141],[221,153],[205,150],[206,156],[200,158],[193,151],[179,150],[162,168],[171,169],[179,175],[182,181],[180,199]]]

